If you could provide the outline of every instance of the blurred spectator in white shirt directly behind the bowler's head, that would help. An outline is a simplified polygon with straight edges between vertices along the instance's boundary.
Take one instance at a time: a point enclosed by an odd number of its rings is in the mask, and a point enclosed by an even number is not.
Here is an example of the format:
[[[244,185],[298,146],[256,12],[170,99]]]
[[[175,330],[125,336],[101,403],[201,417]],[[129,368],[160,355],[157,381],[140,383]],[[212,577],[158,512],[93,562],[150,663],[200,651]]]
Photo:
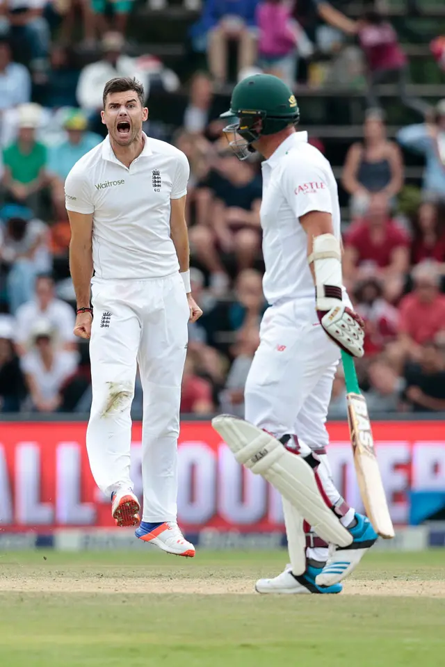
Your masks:
[[[102,38],[102,58],[96,63],[83,67],[76,97],[79,106],[87,113],[96,113],[102,109],[102,91],[105,84],[115,77],[136,77],[143,83],[145,95],[148,95],[147,75],[138,69],[134,58],[123,53],[124,38],[120,33],[105,33]]]

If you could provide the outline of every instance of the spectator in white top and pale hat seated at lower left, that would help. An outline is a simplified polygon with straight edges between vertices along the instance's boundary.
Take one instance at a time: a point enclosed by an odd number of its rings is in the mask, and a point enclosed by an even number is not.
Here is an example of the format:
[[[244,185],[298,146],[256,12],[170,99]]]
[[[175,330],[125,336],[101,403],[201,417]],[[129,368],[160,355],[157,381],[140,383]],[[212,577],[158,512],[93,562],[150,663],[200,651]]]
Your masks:
[[[35,323],[33,347],[21,360],[30,406],[38,412],[54,412],[63,403],[62,390],[77,369],[76,358],[54,343],[54,330],[47,320]]]

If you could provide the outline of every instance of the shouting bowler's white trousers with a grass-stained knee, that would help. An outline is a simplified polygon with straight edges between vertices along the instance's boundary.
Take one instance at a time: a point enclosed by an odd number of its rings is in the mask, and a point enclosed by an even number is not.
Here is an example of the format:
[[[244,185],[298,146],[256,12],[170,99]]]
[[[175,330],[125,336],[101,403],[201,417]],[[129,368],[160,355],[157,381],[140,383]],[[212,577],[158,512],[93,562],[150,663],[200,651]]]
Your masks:
[[[130,260],[129,260],[130,261]],[[143,387],[143,520],[177,517],[177,439],[189,317],[179,272],[92,284],[90,467],[106,494],[132,489],[131,417],[139,366]]]

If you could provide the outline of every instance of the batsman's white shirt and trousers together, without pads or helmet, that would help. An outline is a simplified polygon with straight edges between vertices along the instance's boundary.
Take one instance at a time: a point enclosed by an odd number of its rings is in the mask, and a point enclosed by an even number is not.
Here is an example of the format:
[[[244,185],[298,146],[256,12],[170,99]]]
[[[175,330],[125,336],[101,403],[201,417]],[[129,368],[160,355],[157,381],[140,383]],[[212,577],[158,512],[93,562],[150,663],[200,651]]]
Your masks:
[[[306,132],[286,138],[262,170],[264,294],[270,307],[245,386],[245,418],[318,449],[327,444],[325,419],[340,351],[318,324],[299,218],[309,211],[330,213],[340,238],[337,183]]]

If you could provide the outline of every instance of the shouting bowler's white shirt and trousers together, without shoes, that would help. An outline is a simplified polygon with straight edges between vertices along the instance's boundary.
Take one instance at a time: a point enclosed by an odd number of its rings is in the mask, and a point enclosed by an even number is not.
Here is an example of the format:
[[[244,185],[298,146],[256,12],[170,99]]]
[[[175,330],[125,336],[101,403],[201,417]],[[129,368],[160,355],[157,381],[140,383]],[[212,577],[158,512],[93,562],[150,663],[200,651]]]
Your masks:
[[[95,481],[133,488],[131,416],[136,367],[143,386],[143,519],[177,514],[177,437],[188,301],[170,239],[170,200],[186,194],[188,161],[144,135],[129,168],[106,138],[72,168],[66,207],[92,214],[92,405],[86,434]]]

